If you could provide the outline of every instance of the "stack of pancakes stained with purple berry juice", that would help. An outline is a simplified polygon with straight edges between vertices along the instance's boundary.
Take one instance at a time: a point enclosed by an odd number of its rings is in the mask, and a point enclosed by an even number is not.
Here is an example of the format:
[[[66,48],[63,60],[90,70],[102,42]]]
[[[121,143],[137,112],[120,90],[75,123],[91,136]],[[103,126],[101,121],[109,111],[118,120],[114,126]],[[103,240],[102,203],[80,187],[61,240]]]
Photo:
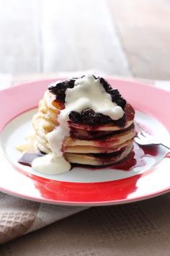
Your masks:
[[[35,147],[43,153],[50,153],[45,135],[58,127],[58,114],[64,103],[56,101],[48,90],[39,103],[37,114],[32,119],[35,128]],[[97,127],[69,121],[70,136],[63,140],[63,155],[70,163],[92,166],[106,166],[126,158],[133,150],[135,128],[134,110],[125,106],[125,127],[104,124]]]

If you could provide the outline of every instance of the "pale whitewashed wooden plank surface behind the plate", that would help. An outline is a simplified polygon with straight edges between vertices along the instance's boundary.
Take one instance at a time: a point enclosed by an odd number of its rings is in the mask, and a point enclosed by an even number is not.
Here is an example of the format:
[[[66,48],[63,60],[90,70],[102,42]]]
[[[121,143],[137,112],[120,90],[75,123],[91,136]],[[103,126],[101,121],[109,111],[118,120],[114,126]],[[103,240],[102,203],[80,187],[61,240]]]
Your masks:
[[[0,1],[0,73],[170,79],[169,0]]]

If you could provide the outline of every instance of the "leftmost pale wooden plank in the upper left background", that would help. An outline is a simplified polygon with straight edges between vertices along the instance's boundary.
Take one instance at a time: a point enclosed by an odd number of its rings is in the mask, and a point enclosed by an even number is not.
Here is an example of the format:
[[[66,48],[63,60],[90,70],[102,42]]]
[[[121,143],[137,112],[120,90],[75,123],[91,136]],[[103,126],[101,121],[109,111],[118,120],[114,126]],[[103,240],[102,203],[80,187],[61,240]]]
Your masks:
[[[40,72],[36,1],[0,1],[0,72]]]

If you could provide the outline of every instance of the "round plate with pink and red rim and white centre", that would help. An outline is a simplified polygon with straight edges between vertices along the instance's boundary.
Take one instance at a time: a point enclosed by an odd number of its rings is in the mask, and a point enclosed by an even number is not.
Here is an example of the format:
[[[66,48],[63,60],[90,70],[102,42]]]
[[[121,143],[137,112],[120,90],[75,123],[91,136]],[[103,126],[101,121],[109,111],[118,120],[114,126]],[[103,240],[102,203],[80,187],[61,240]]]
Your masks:
[[[169,140],[170,93],[140,82],[113,80],[133,105],[136,120],[162,139]],[[114,205],[144,200],[170,190],[170,153],[163,147],[158,155],[147,158],[145,167],[131,171],[98,171],[75,168],[63,176],[38,174],[17,163],[14,146],[24,142],[30,120],[47,86],[42,80],[0,91],[0,190],[38,202],[63,205]]]

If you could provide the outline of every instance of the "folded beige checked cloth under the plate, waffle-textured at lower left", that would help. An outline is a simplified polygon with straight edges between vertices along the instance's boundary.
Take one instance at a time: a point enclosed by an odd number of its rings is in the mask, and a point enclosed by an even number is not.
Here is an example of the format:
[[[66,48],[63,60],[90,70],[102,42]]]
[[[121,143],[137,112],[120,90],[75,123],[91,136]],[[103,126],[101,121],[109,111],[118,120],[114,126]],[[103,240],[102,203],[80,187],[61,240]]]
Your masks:
[[[62,74],[59,75],[62,76]],[[72,74],[64,74],[63,77],[70,77],[71,75]],[[43,74],[44,78],[57,76],[58,74],[50,74],[49,76]],[[6,86],[9,86],[11,85],[9,80],[12,80],[12,77],[6,77],[6,79],[8,79]],[[35,80],[42,79],[43,77],[36,76]],[[4,79],[5,76],[3,76],[3,82]],[[33,76],[30,76],[30,79],[29,77],[17,77],[16,80],[13,80],[12,84],[16,84],[16,81],[19,83],[19,81],[30,82],[30,80],[34,80]],[[154,84],[153,82],[151,83]],[[161,81],[161,83],[157,81],[156,87],[162,87],[163,84],[163,81]],[[166,90],[166,85],[163,86],[164,90]],[[87,207],[46,205],[44,203],[32,202],[0,192],[0,244],[85,209],[87,209]]]

